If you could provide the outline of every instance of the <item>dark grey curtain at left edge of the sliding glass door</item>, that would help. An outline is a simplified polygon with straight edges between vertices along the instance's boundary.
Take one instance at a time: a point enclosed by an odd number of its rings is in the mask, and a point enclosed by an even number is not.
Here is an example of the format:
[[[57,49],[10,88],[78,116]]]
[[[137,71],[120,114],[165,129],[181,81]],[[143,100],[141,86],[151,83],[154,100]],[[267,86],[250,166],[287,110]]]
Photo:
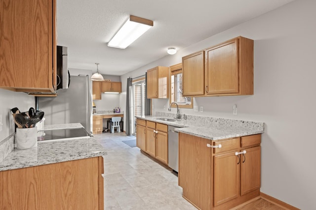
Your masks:
[[[126,87],[126,135],[131,135],[131,129],[133,126],[133,96],[132,96],[132,78],[127,78],[127,87]]]

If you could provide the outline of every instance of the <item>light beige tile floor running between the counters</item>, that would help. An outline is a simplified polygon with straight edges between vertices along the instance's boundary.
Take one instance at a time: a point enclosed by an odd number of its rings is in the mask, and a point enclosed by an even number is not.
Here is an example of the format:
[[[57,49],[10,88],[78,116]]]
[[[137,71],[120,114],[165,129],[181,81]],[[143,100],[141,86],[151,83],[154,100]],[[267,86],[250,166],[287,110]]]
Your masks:
[[[196,210],[182,198],[178,177],[138,147],[122,140],[125,133],[95,135],[108,151],[104,156],[105,210]]]

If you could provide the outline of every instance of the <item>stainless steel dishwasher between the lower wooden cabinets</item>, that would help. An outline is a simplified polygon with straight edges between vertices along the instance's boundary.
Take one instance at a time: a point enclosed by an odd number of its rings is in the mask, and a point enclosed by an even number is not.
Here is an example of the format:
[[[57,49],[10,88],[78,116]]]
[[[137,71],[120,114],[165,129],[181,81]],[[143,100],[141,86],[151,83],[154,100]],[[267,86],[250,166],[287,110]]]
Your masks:
[[[168,126],[168,166],[178,173],[179,164],[179,133],[174,131],[174,126]]]

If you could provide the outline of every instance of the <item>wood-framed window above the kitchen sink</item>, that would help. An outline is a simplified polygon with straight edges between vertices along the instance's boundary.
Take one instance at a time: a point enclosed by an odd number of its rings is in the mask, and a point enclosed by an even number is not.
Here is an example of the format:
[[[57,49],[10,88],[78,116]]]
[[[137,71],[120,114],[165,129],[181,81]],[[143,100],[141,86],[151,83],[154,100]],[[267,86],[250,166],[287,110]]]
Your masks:
[[[192,97],[182,96],[182,64],[173,65],[169,69],[171,75],[169,103],[176,102],[180,108],[193,108]]]

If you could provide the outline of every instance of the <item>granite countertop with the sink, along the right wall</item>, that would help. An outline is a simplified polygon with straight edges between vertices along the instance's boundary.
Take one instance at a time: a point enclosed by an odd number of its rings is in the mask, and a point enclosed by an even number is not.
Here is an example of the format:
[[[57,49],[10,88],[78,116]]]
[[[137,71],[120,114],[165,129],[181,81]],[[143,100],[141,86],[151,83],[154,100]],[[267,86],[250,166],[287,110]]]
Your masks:
[[[209,140],[222,140],[264,133],[264,123],[261,122],[212,117],[196,117],[196,119],[177,121],[164,121],[157,119],[161,118],[162,116],[136,117],[139,119],[150,120],[153,122],[179,127],[175,129],[175,131]]]

